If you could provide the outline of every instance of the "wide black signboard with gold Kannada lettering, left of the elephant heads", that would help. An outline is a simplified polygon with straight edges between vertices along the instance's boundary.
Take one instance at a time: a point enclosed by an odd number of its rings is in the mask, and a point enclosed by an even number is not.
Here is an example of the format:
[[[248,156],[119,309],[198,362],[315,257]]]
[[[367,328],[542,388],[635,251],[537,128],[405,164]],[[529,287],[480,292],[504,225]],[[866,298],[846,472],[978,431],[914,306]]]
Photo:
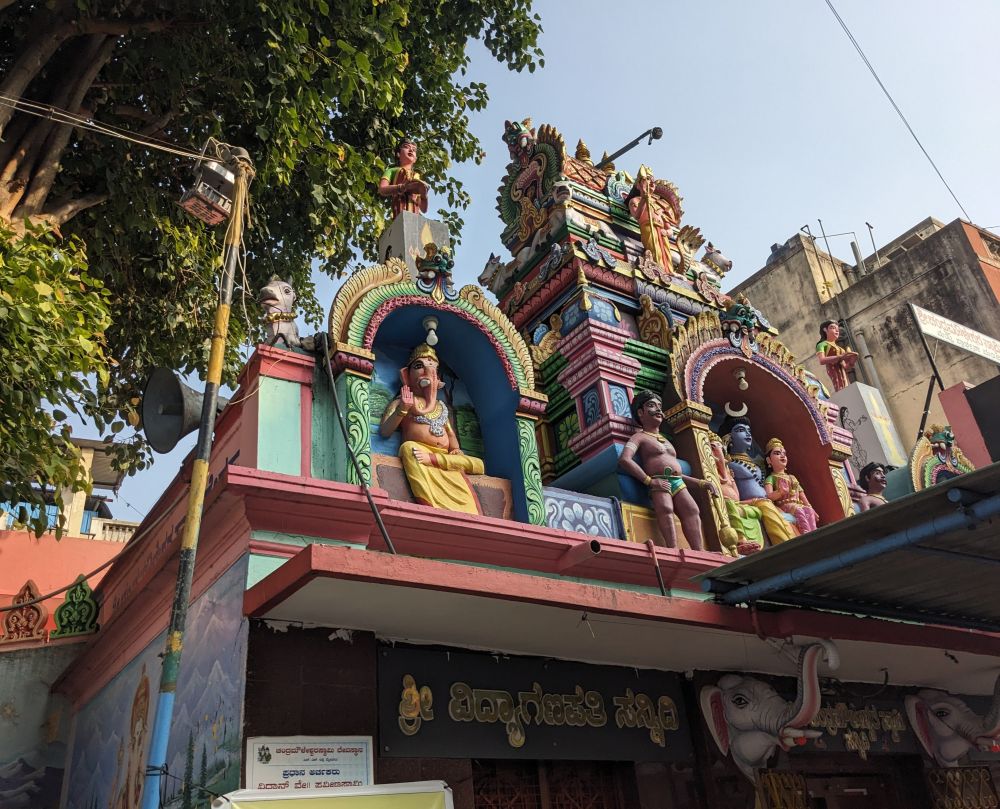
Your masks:
[[[396,645],[379,648],[378,693],[383,756],[692,755],[675,674]]]

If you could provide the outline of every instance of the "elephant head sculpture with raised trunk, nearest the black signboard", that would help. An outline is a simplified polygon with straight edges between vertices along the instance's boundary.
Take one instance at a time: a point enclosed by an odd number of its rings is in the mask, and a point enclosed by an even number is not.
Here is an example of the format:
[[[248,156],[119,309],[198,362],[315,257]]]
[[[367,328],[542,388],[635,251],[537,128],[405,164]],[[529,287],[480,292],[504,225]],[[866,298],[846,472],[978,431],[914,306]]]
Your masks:
[[[831,669],[840,659],[832,641],[822,641],[799,650],[798,688],[788,702],[763,680],[742,674],[726,674],[718,686],[701,689],[701,710],[712,738],[723,755],[751,781],[756,770],[767,764],[778,746],[789,750],[822,736],[810,730],[822,702],[817,672],[823,656]]]

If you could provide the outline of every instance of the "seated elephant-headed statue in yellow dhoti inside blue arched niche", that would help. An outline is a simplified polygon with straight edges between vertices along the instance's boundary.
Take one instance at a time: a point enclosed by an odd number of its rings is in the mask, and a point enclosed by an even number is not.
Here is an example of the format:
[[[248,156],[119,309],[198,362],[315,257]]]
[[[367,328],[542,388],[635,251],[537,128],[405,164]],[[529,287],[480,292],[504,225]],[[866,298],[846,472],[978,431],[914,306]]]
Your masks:
[[[379,432],[388,438],[401,430],[399,459],[417,502],[449,511],[480,514],[479,500],[466,475],[482,475],[483,462],[462,452],[448,419],[448,406],[437,398],[437,353],[421,343],[399,371],[402,387],[382,415]]]

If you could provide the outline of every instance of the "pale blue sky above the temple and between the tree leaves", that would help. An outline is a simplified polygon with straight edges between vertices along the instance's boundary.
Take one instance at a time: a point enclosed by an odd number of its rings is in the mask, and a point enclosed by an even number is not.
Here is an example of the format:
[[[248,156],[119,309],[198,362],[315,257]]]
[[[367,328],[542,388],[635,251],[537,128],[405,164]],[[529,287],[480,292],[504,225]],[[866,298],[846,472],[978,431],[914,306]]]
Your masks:
[[[1000,3],[834,4],[972,220],[1000,225]],[[490,103],[472,119],[485,162],[454,167],[473,199],[460,284],[491,251],[506,255],[494,210],[506,118],[552,124],[570,151],[582,138],[595,158],[662,127],[617,165],[643,162],[677,185],[685,222],[733,260],[731,285],[802,225],[818,234],[817,218],[828,233],[855,231],[867,255],[866,221],[881,246],[926,216],[961,216],[824,0],[542,0],[535,10],[544,69],[511,73],[471,49],[468,78],[487,84]],[[431,210],[443,204],[432,198]],[[849,237],[831,247],[853,263]],[[337,285],[317,279],[327,306]],[[193,443],[127,479],[115,515],[145,514]]]

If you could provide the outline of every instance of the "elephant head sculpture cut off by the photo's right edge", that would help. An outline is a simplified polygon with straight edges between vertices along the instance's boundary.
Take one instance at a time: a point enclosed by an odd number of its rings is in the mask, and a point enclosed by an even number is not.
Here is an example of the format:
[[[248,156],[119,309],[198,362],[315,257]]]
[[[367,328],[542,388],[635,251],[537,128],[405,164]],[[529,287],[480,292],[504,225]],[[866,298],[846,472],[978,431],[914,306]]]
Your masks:
[[[910,727],[927,755],[939,767],[957,767],[972,748],[1000,752],[1000,676],[993,686],[993,704],[979,716],[947,691],[925,688],[904,698]]]

